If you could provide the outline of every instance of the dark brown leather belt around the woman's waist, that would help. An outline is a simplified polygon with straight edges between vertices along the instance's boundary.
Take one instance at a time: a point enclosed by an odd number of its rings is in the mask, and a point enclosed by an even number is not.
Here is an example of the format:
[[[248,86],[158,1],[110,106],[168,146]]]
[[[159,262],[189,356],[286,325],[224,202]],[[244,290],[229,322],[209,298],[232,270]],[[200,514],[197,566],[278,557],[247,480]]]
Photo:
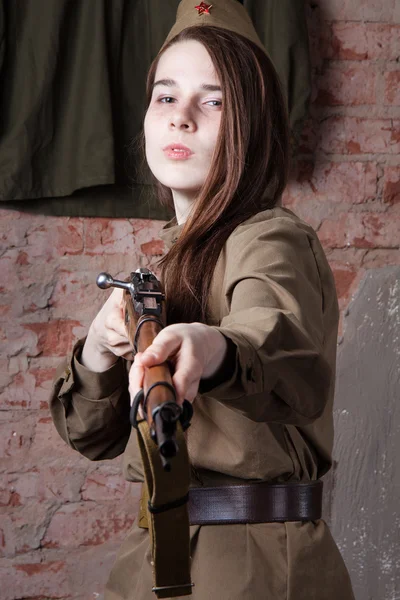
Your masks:
[[[316,521],[322,515],[322,481],[249,483],[189,490],[190,525]],[[147,524],[142,491],[139,527]]]

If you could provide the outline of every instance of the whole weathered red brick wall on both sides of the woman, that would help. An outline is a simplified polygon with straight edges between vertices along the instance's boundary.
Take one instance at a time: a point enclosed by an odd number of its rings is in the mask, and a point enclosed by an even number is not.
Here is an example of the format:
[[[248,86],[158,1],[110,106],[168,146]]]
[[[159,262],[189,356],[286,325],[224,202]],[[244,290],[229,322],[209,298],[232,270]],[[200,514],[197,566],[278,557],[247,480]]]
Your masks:
[[[400,264],[400,10],[307,4],[312,106],[284,204],[317,230],[343,315],[370,269]],[[58,438],[48,392],[104,301],[96,275],[152,268],[162,224],[1,210],[2,600],[101,598],[138,489],[119,459],[90,463]]]

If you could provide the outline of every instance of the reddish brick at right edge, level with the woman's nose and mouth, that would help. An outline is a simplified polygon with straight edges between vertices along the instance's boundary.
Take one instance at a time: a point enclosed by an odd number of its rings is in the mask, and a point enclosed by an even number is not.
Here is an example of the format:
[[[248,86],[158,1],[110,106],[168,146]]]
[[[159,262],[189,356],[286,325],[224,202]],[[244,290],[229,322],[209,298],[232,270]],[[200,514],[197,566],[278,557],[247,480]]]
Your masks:
[[[320,147],[327,154],[398,154],[400,121],[335,116],[320,126]]]

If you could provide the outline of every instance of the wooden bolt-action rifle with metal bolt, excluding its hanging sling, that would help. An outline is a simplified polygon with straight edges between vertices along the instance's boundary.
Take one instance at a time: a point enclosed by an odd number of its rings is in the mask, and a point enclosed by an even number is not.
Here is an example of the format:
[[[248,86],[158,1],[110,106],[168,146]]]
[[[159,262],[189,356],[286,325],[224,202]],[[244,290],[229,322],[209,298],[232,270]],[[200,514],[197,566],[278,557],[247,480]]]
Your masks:
[[[101,289],[118,287],[124,290],[127,336],[134,355],[136,352],[144,352],[166,325],[165,296],[159,280],[149,269],[140,268],[131,273],[127,281],[119,281],[108,273],[100,273],[97,285]],[[169,471],[170,459],[178,452],[175,439],[177,422],[180,421],[185,431],[190,425],[193,408],[187,400],[182,407],[176,402],[167,362],[147,368],[143,386],[134,398],[130,421],[137,429],[138,409],[141,406],[151,438],[158,445],[162,465]]]

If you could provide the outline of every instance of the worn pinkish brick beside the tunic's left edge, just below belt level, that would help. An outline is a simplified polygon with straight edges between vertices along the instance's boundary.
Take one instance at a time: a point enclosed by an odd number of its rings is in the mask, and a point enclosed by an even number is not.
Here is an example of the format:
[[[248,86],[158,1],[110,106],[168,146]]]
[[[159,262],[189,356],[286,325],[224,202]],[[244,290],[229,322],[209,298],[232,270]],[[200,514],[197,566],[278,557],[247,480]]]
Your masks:
[[[96,502],[67,504],[50,521],[42,546],[47,548],[77,548],[121,540],[134,521],[134,515],[118,506]]]

